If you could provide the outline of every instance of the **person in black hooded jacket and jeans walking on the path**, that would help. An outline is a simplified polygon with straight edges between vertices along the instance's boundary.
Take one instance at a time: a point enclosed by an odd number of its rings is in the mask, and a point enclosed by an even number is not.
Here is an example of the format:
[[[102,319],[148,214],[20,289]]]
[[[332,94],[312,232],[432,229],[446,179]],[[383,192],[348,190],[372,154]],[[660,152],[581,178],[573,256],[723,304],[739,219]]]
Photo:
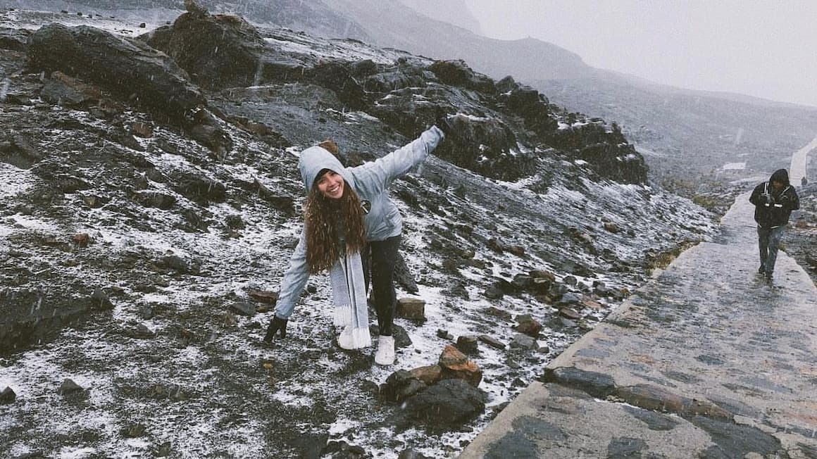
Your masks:
[[[757,247],[761,252],[761,267],[757,272],[770,278],[775,272],[777,249],[788,224],[788,216],[800,208],[800,198],[788,183],[788,172],[778,169],[768,181],[752,190],[749,202],[755,205]]]

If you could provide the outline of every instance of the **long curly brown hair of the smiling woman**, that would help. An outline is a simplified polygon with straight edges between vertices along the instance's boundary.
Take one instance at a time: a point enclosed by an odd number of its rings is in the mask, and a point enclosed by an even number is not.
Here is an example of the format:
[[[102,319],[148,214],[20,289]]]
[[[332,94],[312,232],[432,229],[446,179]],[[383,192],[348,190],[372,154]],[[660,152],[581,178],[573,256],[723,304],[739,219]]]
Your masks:
[[[346,252],[360,252],[366,244],[363,207],[348,182],[340,199],[327,198],[313,186],[306,197],[304,220],[306,265],[312,274],[332,268],[344,248]]]

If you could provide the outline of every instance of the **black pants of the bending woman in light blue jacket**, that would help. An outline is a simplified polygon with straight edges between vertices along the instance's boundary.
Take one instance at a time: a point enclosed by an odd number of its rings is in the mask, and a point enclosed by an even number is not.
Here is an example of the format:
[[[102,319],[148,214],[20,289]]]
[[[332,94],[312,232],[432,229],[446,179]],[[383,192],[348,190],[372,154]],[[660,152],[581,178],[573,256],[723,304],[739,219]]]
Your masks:
[[[377,327],[382,336],[391,336],[391,326],[395,322],[395,263],[400,235],[384,241],[369,241],[363,253],[363,272],[368,292],[369,279],[372,280],[374,310],[377,311]]]

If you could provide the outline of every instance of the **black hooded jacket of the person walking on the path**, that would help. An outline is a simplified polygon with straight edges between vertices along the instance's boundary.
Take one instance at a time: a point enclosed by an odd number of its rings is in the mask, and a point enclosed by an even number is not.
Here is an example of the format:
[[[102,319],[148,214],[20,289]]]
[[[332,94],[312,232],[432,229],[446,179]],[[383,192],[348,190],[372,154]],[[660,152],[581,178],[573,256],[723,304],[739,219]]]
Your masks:
[[[776,189],[772,182],[779,181],[783,187]],[[794,187],[788,183],[788,172],[778,169],[769,181],[757,185],[752,190],[749,202],[755,205],[755,221],[764,228],[775,228],[788,223],[792,211],[800,208],[800,198]]]

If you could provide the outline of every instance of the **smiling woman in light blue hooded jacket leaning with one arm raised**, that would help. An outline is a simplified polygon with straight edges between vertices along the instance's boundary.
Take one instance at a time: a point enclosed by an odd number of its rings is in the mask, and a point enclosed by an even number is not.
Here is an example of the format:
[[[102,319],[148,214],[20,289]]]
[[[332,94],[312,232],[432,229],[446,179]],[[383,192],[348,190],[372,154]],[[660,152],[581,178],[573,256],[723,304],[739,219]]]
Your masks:
[[[380,334],[374,360],[381,365],[394,363],[393,278],[403,225],[387,189],[425,161],[443,137],[440,128],[431,127],[410,144],[358,167],[343,167],[333,142],[301,153],[298,167],[308,193],[304,229],[264,341],[272,341],[276,333],[286,336],[289,315],[309,275],[328,270],[334,323],[342,328],[337,344],[347,350],[368,347],[372,338],[366,292],[371,277]]]

